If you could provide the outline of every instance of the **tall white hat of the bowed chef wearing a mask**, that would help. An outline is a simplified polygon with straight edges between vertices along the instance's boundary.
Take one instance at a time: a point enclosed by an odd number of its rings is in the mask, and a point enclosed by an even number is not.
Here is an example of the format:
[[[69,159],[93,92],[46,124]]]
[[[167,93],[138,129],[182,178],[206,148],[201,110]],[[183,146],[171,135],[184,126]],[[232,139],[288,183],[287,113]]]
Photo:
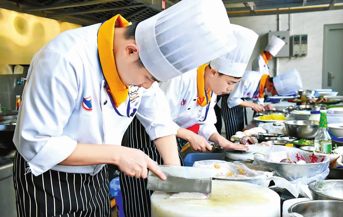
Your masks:
[[[273,78],[273,83],[279,95],[303,89],[303,81],[296,69],[292,69],[281,75],[275,76]]]

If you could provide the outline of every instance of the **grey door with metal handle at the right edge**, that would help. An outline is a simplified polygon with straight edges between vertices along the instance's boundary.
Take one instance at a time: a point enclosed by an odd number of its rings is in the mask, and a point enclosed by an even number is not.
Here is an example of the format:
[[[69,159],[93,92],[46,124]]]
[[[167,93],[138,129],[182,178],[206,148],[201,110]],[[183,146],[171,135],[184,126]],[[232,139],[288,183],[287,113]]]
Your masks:
[[[343,23],[324,25],[323,88],[343,95]]]

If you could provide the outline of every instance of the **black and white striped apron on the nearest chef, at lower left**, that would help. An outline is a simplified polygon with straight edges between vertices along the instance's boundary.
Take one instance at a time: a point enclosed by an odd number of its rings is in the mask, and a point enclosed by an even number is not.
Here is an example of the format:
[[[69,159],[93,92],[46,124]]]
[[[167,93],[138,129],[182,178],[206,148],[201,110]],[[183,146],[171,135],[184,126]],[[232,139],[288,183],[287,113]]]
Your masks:
[[[55,170],[34,176],[17,151],[13,183],[17,216],[111,216],[107,165],[94,176]]]

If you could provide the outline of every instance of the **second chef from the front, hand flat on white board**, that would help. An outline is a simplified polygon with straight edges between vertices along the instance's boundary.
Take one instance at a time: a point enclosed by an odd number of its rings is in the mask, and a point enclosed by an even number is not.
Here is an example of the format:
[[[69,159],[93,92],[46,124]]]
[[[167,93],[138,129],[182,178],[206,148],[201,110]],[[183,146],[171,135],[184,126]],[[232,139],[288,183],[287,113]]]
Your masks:
[[[234,37],[240,46],[249,47],[239,50],[248,49],[250,53],[227,53],[211,61],[210,64],[201,65],[199,68],[159,84],[168,99],[167,104],[169,104],[173,121],[180,126],[176,136],[189,141],[190,146],[199,152],[211,150],[212,146],[209,143],[213,142],[224,148],[248,149],[245,145],[226,140],[214,126],[216,116],[213,107],[216,104],[216,96],[232,91],[243,76],[246,67],[243,63],[232,61],[233,56],[237,59],[249,59],[258,38],[255,32],[239,25],[232,24],[227,29],[233,30]],[[241,40],[245,43],[241,43]],[[216,44],[216,41],[213,41]],[[236,42],[232,40],[232,44],[236,45]],[[203,54],[199,53],[199,55]],[[144,131],[141,120],[134,119],[130,124],[124,135],[123,145],[142,150],[159,164],[165,163],[154,141],[150,140],[149,135]],[[184,165],[179,141],[178,151],[181,165]],[[125,216],[150,216],[150,196],[153,191],[146,189],[147,181],[133,179],[121,173],[120,185],[123,189]]]

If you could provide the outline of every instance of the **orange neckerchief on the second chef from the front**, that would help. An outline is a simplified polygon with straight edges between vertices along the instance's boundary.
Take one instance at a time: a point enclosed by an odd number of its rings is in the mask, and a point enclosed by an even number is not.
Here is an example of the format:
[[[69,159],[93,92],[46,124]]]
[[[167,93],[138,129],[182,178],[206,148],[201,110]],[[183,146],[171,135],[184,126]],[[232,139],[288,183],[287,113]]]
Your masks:
[[[197,87],[198,87],[198,105],[201,107],[204,107],[207,105],[209,101],[211,101],[211,92],[212,89],[208,89],[208,91],[205,92],[205,83],[204,83],[204,71],[206,66],[209,64],[203,64],[197,69]],[[208,98],[208,101],[206,101],[206,95]]]

